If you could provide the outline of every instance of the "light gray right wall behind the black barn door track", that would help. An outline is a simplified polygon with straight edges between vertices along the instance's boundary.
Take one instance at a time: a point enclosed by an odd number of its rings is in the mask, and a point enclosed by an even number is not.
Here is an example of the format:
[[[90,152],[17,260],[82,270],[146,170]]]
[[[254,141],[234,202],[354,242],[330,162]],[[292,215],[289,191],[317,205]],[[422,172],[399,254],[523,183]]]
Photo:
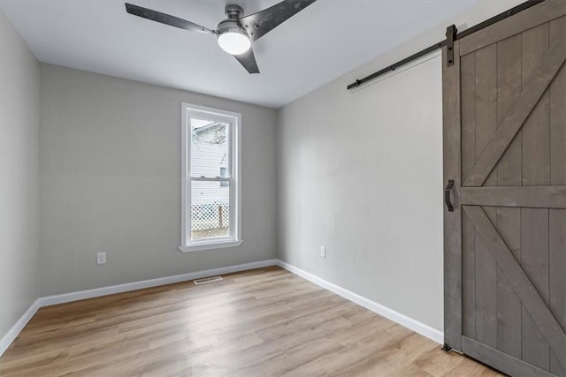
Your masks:
[[[346,87],[520,2],[480,1],[279,110],[281,260],[442,329],[440,57]]]

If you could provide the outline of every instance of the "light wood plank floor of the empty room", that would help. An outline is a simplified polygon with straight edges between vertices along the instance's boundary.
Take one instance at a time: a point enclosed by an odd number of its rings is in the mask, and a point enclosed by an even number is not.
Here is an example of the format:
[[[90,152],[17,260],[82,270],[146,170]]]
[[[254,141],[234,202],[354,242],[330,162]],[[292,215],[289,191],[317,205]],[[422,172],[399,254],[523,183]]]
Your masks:
[[[2,376],[492,376],[281,268],[42,308]]]

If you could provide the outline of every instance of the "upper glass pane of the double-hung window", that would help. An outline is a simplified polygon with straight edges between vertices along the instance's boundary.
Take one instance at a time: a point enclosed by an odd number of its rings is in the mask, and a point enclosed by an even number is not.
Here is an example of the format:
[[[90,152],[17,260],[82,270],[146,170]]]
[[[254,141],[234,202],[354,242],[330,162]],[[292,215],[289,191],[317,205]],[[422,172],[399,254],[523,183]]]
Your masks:
[[[191,118],[191,177],[230,177],[229,126]]]

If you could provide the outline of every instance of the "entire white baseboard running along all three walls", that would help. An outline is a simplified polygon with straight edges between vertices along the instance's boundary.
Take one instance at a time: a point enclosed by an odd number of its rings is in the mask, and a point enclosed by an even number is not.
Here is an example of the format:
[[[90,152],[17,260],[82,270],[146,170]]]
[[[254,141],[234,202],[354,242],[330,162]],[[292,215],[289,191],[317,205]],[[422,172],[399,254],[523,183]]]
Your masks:
[[[43,307],[49,305],[65,304],[68,302],[78,301],[86,298],[98,298],[101,296],[111,295],[114,293],[122,293],[130,290],[142,290],[144,288],[157,287],[159,285],[187,282],[190,280],[200,279],[202,277],[208,277],[213,275],[223,275],[231,274],[234,272],[247,271],[254,268],[264,268],[268,266],[279,266],[280,268],[285,268],[287,271],[293,273],[294,275],[299,275],[302,278],[315,283],[326,290],[346,298],[357,305],[361,305],[371,312],[378,313],[386,317],[389,320],[399,323],[400,325],[409,328],[422,336],[426,336],[437,343],[444,343],[444,334],[442,331],[425,325],[418,320],[409,318],[408,316],[395,312],[384,305],[378,304],[375,301],[371,301],[369,298],[364,298],[350,290],[346,290],[336,284],[330,283],[321,279],[315,275],[312,275],[301,268],[296,268],[281,260],[261,260],[257,262],[244,263],[235,266],[228,266],[225,268],[212,268],[203,271],[191,272],[182,275],[173,275],[166,277],[159,277],[157,279],[142,280],[140,282],[125,283],[118,285],[111,285],[108,287],[96,288],[94,290],[80,290],[77,292],[65,293],[62,295],[47,296],[44,298],[38,298],[34,301],[32,305],[29,306],[26,313],[24,313],[19,320],[10,328],[10,330],[0,339],[0,356],[4,354],[4,351],[10,347],[10,344],[16,339],[21,330],[26,327],[27,322],[32,319],[35,313]]]

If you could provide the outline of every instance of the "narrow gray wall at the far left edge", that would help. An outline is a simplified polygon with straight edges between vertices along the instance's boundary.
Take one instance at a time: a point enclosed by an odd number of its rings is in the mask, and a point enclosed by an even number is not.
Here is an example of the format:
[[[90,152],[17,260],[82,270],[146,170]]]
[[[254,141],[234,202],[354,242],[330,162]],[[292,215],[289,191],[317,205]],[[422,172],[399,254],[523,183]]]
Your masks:
[[[39,294],[39,63],[0,11],[0,337]]]

